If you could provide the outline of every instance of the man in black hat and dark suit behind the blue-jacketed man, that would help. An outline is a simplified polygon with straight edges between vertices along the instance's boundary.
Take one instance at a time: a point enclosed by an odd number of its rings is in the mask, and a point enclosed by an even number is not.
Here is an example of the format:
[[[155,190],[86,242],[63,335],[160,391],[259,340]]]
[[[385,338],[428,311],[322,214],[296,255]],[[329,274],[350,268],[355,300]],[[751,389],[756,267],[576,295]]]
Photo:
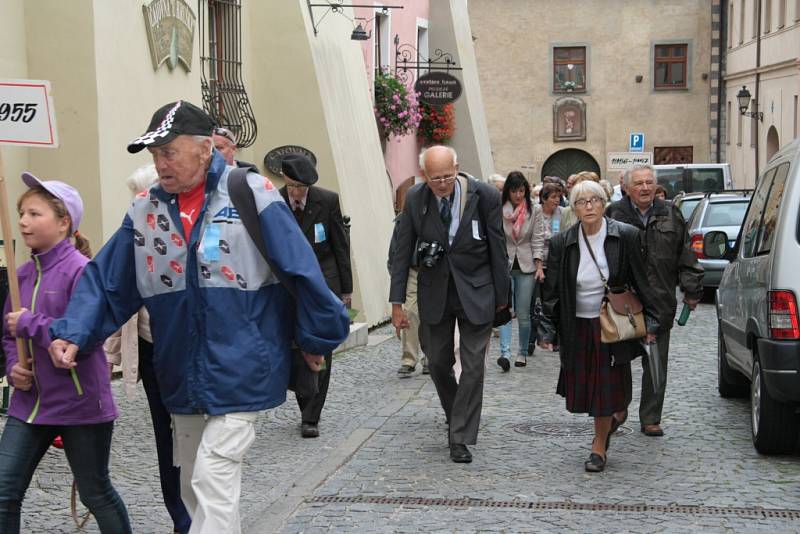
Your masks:
[[[294,213],[297,224],[311,243],[328,287],[349,308],[353,293],[350,268],[350,238],[342,219],[339,195],[314,184],[319,175],[307,157],[290,154],[281,162],[286,185],[280,193]],[[302,412],[301,434],[319,436],[319,417],[331,377],[332,354],[325,355],[326,368],[319,374],[319,393],[311,398],[297,397]]]

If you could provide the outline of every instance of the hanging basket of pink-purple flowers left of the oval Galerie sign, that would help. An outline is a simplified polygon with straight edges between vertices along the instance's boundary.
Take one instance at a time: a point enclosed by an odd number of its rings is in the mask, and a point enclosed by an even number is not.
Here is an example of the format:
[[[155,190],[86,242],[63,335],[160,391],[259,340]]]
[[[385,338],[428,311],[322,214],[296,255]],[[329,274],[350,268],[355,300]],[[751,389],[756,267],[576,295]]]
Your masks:
[[[413,133],[422,118],[416,93],[386,71],[375,75],[374,111],[383,140]]]

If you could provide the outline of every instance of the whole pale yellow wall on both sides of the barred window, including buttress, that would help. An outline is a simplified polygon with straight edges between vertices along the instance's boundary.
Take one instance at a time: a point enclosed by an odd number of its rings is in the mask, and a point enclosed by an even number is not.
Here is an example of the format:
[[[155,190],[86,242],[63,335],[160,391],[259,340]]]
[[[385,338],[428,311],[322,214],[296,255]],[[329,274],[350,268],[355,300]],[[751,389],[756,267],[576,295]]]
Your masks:
[[[202,104],[199,29],[191,72],[166,65],[154,72],[142,4],[0,0],[3,76],[51,81],[61,141],[51,150],[3,149],[12,203],[23,189],[16,177],[25,169],[75,185],[86,205],[81,231],[95,251],[129,204],[125,178],[149,161],[147,152],[128,154],[128,141],[145,131],[163,104]],[[316,154],[319,185],[340,193],[352,219],[354,307],[363,311],[361,319],[380,322],[389,313],[392,191],[350,22],[331,15],[315,37],[305,0],[285,0],[244,2],[242,25],[243,78],[258,138],[239,157],[261,166],[269,150],[286,144]],[[26,255],[18,251],[18,259]]]

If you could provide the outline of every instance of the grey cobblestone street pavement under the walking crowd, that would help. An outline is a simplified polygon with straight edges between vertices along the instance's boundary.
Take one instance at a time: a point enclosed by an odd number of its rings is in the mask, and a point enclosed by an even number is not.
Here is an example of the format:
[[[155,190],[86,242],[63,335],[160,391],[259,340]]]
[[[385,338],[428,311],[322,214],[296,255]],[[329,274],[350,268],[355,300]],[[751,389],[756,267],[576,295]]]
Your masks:
[[[709,304],[673,330],[666,436],[639,432],[634,362],[631,416],[600,474],[583,470],[591,420],[569,414],[554,393],[556,354],[537,350],[527,367],[504,374],[492,340],[475,460],[464,465],[448,458],[430,379],[395,377],[398,353],[391,339],[337,357],[319,439],[299,437],[294,399],[261,417],[245,459],[245,532],[800,531],[798,456],[759,456],[747,400],[717,395]],[[134,531],[167,532],[144,394],[128,401],[118,383],[115,392],[122,417],[112,477]],[[48,452],[23,531],[79,532],[69,518],[69,482],[63,454]]]

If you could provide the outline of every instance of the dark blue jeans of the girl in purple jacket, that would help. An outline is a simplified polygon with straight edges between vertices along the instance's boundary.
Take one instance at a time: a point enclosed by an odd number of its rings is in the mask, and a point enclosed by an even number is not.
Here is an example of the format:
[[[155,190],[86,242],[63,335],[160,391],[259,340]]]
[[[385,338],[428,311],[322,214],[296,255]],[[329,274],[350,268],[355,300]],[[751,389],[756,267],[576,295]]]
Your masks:
[[[0,438],[0,532],[19,533],[20,509],[33,472],[53,439],[64,440],[81,502],[94,515],[100,532],[129,533],[128,511],[108,476],[114,423],[56,426],[6,420]]]

